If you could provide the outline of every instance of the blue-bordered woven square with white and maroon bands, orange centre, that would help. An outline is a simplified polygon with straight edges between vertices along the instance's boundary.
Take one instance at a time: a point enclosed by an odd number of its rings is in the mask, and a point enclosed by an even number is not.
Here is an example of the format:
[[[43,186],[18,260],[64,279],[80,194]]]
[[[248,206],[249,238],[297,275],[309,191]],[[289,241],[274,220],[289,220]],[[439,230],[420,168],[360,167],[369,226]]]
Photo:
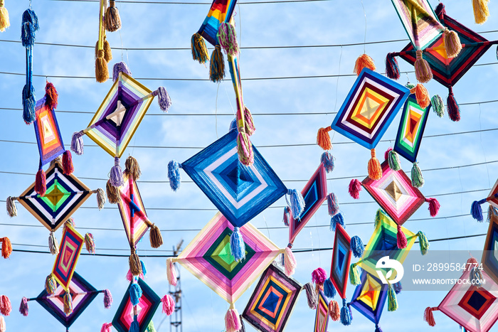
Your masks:
[[[409,94],[403,85],[364,68],[330,127],[373,149]]]

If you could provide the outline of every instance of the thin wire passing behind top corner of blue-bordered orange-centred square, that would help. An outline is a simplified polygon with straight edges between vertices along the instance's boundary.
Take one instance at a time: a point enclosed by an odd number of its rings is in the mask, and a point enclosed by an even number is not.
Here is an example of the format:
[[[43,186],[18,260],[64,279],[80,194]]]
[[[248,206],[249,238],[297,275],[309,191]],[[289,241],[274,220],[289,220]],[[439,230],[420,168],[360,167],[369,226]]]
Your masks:
[[[498,63],[480,63],[474,67],[483,65],[497,65]],[[403,73],[415,73],[415,71],[403,71]],[[9,73],[0,72],[3,75],[17,75],[26,76],[26,73]],[[68,76],[68,75],[40,75],[33,74],[33,77],[51,77],[51,78],[67,78],[67,79],[81,79],[81,80],[95,80],[95,76]],[[245,77],[240,80],[297,80],[307,78],[331,78],[331,77],[356,77],[356,74],[333,74],[333,75],[302,75],[302,76],[275,76],[275,77]],[[208,78],[164,78],[164,77],[134,77],[136,80],[161,80],[161,81],[209,81]],[[112,80],[112,77],[109,77]],[[224,81],[231,82],[231,78],[224,78]]]

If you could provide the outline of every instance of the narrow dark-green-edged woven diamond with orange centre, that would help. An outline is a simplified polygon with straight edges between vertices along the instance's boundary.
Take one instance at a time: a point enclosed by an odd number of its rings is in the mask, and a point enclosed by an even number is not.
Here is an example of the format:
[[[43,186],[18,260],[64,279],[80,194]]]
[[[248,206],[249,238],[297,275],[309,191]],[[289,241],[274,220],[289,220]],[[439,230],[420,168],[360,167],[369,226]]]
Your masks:
[[[405,102],[393,150],[412,163],[417,161],[429,109],[430,105],[425,109],[418,106],[415,95],[410,95]]]

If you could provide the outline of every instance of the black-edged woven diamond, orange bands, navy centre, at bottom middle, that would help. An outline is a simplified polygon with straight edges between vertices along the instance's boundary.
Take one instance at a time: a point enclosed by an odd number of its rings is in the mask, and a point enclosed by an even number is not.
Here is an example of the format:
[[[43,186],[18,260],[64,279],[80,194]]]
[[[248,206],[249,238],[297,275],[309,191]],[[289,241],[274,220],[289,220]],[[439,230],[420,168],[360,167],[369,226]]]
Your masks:
[[[262,332],[281,332],[292,314],[302,286],[274,264],[263,272],[243,318]]]

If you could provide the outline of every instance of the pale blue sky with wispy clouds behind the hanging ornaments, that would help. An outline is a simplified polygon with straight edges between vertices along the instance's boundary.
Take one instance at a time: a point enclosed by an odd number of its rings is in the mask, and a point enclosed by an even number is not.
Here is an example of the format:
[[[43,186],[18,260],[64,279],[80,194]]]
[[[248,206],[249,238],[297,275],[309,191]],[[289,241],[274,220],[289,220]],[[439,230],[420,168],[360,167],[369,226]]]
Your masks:
[[[18,196],[34,180],[38,170],[38,150],[36,144],[12,143],[7,141],[35,141],[33,126],[26,126],[21,117],[21,90],[25,77],[5,73],[25,73],[25,49],[19,41],[21,14],[28,7],[28,1],[5,1],[11,18],[11,28],[0,34],[0,146],[4,158],[0,161],[0,199]],[[436,1],[430,1],[435,7]],[[498,6],[489,3],[491,16],[487,23],[478,26],[474,23],[470,1],[447,1],[447,14],[457,18],[465,26],[477,32],[498,30]],[[38,14],[41,29],[37,33],[39,43],[71,45],[95,45],[97,41],[98,5],[95,2],[80,1],[32,1],[33,10]],[[217,137],[226,133],[235,112],[235,95],[230,81],[217,85],[208,82],[208,68],[191,59],[189,50],[132,50],[132,48],[189,48],[190,38],[198,30],[208,12],[208,4],[128,4],[117,1],[122,18],[119,32],[107,33],[107,40],[113,48],[113,60],[125,60],[133,76],[144,85],[155,90],[160,85],[166,87],[173,106],[169,114],[163,114],[154,101],[147,116],[137,130],[125,155],[134,156],[142,167],[139,188],[149,219],[157,223],[164,237],[164,245],[152,250],[148,240],[139,244],[139,255],[168,255],[171,246],[183,239],[187,244],[208,220],[216,213],[211,202],[193,183],[183,183],[174,193],[166,183],[167,163],[171,159],[184,161],[211,144]],[[364,9],[363,9],[364,8]],[[408,38],[390,1],[309,1],[305,3],[243,4],[236,8],[235,22],[240,46],[240,73],[243,78],[244,101],[253,112],[257,131],[252,137],[255,146],[261,147],[268,163],[275,169],[288,188],[302,189],[309,176],[319,164],[322,150],[312,145],[317,129],[332,122],[355,77],[352,74],[354,60],[366,51],[375,60],[378,72],[383,73],[383,62],[387,53],[401,50]],[[366,20],[365,20],[365,15]],[[366,26],[365,26],[366,24]],[[366,32],[366,36],[365,36]],[[489,40],[496,40],[498,33],[484,33]],[[393,41],[369,45],[346,46],[344,44],[372,41]],[[253,46],[283,45],[344,45],[317,48],[270,48],[254,49]],[[59,92],[58,122],[66,148],[69,147],[73,132],[85,128],[92,113],[102,102],[111,82],[98,84],[93,80],[75,77],[94,75],[94,50],[92,48],[64,47],[36,44],[33,50],[33,73],[41,77],[33,78],[38,99],[43,97],[46,77],[53,82]],[[401,71],[413,68],[399,59]],[[441,209],[435,220],[429,220],[427,206],[423,205],[405,224],[417,232],[423,230],[430,239],[484,234],[487,224],[478,224],[470,215],[473,200],[484,198],[496,181],[498,173],[498,151],[494,147],[496,131],[472,132],[480,129],[497,129],[496,103],[465,105],[467,103],[496,100],[498,67],[496,46],[493,46],[479,60],[482,65],[472,68],[454,88],[455,97],[462,105],[460,122],[454,123],[445,116],[439,119],[432,112],[429,115],[418,160],[420,168],[450,168],[425,171],[425,186],[422,192],[427,197],[437,197]],[[350,75],[330,77],[327,75]],[[261,77],[322,76],[312,78],[263,79]],[[57,76],[69,76],[60,77]],[[144,78],[153,78],[144,80]],[[175,79],[200,80],[175,80]],[[415,75],[408,73],[410,82]],[[402,73],[401,84],[406,84],[407,75]],[[445,100],[447,89],[438,82],[426,85],[430,95],[440,94]],[[278,115],[286,113],[286,115]],[[300,114],[297,114],[300,113]],[[301,114],[319,113],[319,114]],[[207,114],[207,115],[206,115]],[[216,116],[218,114],[218,116]],[[228,115],[227,115],[228,114]],[[272,114],[272,115],[258,115]],[[289,115],[290,114],[290,115]],[[388,146],[394,144],[400,114],[384,135],[385,140],[378,145],[379,159]],[[346,230],[350,235],[359,235],[368,242],[373,231],[376,203],[365,192],[359,201],[353,201],[347,193],[351,177],[362,179],[366,176],[369,151],[353,144],[340,134],[333,134],[336,168],[329,174],[329,192],[336,193],[341,203],[341,211],[346,219]],[[73,155],[75,175],[90,188],[105,188],[105,181],[90,178],[107,178],[112,166],[112,157],[84,136],[85,154]],[[297,146],[297,144],[311,144]],[[280,146],[290,145],[290,146]],[[133,147],[137,146],[137,147]],[[139,146],[160,146],[144,148]],[[181,148],[179,148],[181,147]],[[401,161],[403,169],[410,171],[411,165]],[[486,163],[479,166],[462,167],[469,164]],[[28,173],[33,175],[11,174]],[[184,180],[189,180],[185,173]],[[159,182],[158,182],[159,181]],[[460,193],[462,191],[475,191]],[[441,196],[443,195],[443,196]],[[281,199],[251,221],[265,235],[280,247],[287,245],[287,230],[268,230],[267,227],[282,227]],[[95,237],[97,253],[127,255],[127,240],[122,230],[120,215],[114,205],[107,204],[102,211],[96,210],[95,197],[90,198],[75,215],[77,227],[90,228]],[[157,210],[157,208],[181,208],[187,210]],[[484,206],[487,208],[487,206]],[[455,215],[465,215],[452,218]],[[446,218],[444,218],[446,217]],[[423,220],[420,220],[423,219]],[[309,221],[295,241],[295,249],[318,249],[332,247],[333,232],[329,232],[327,208],[322,207]],[[10,224],[15,224],[10,225]],[[19,225],[29,225],[21,227]],[[0,237],[7,236],[14,243],[14,249],[47,251],[46,247],[26,247],[22,245],[46,246],[48,231],[18,204],[18,217],[10,219],[6,214],[0,217]],[[109,228],[114,230],[97,230]],[[186,230],[189,231],[175,231]],[[80,230],[88,232],[87,229]],[[61,230],[56,234],[60,239]],[[484,237],[471,237],[462,240],[433,242],[431,250],[482,250]],[[107,250],[106,250],[107,249]],[[112,249],[112,250],[110,250]],[[123,250],[123,251],[121,251]],[[162,251],[161,251],[162,250]],[[413,248],[410,255],[420,255]],[[295,278],[302,284],[311,280],[311,272],[317,267],[330,269],[332,251],[297,253],[298,262]],[[28,254],[14,252],[10,259],[0,262],[0,294],[6,294],[12,301],[14,311],[6,317],[7,331],[63,331],[58,321],[41,306],[30,302],[30,314],[23,317],[17,312],[22,296],[34,297],[43,289],[46,276],[51,272],[55,257],[48,254]],[[147,271],[145,281],[160,296],[168,291],[166,264],[164,258],[145,258]],[[77,272],[97,289],[110,289],[115,299],[112,309],[105,310],[102,296],[80,316],[71,331],[100,331],[104,322],[112,321],[119,305],[127,281],[127,257],[82,256]],[[181,269],[182,291],[184,294],[184,331],[223,331],[223,316],[228,304],[208,287]],[[237,309],[242,312],[253,288],[238,301]],[[347,294],[351,296],[354,287],[349,284]],[[437,306],[445,292],[406,291],[398,296],[399,309],[383,313],[381,327],[391,331],[403,326],[403,331],[420,331],[426,328],[423,310],[426,306]],[[338,322],[329,323],[329,331],[373,331],[370,321],[354,311],[351,327]],[[154,317],[159,331],[167,331],[169,318],[164,320],[160,311]],[[433,331],[455,331],[457,323],[441,313],[435,313],[437,326]],[[286,331],[311,331],[314,311],[307,307],[302,294],[290,318]],[[246,324],[248,331],[253,331]]]

